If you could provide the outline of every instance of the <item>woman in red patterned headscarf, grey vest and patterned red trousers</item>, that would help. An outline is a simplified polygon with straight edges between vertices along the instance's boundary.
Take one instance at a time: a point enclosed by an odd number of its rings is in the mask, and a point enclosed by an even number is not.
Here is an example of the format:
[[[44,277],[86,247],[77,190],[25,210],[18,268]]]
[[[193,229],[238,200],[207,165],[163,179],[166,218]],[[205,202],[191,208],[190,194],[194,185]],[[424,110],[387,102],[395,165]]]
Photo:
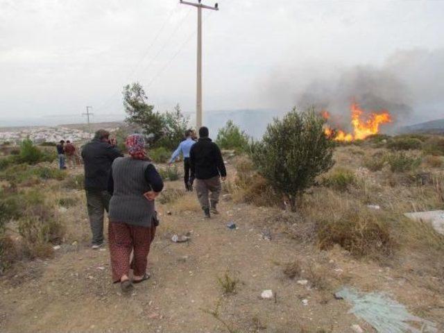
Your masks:
[[[158,224],[154,200],[163,182],[146,155],[144,137],[129,135],[125,144],[130,156],[118,157],[112,163],[108,241],[112,280],[120,282],[121,290],[128,292],[133,283],[150,278],[147,257]],[[133,280],[129,278],[130,268]]]

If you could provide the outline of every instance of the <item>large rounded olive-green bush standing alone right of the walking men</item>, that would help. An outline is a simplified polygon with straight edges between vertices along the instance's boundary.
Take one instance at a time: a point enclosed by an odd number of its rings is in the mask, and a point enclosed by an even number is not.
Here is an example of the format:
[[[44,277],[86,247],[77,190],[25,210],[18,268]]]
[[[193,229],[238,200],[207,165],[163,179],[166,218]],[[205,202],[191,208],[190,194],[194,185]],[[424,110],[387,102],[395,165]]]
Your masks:
[[[324,123],[314,110],[299,113],[293,108],[282,121],[268,125],[262,142],[251,145],[259,173],[288,196],[291,210],[316,176],[334,164],[334,142],[325,135]]]

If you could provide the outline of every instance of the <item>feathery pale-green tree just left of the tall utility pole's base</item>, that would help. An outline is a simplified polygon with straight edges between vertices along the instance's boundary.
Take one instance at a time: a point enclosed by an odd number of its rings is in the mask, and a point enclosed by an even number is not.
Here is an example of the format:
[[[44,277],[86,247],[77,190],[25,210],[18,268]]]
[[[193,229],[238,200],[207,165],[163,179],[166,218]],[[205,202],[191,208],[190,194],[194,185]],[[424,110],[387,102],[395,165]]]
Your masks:
[[[173,112],[165,112],[164,136],[157,142],[157,146],[174,149],[182,141],[185,131],[189,126],[189,117],[185,117],[180,111],[180,105],[176,105]]]

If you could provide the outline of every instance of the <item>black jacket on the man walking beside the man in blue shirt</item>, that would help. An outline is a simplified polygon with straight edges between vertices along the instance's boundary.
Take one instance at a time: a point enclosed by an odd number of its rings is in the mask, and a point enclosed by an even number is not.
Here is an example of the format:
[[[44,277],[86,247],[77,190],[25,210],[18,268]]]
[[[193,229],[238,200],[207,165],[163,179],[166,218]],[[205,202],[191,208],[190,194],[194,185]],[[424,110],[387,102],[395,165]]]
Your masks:
[[[191,173],[196,179],[209,179],[227,176],[221,150],[208,137],[201,137],[189,151]]]

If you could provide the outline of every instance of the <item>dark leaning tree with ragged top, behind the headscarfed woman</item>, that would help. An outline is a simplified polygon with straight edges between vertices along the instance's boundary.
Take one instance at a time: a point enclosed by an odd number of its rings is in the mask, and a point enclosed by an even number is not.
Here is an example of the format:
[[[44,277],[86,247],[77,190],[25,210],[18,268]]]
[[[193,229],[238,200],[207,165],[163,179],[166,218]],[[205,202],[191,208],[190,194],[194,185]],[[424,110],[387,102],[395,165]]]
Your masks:
[[[148,97],[139,83],[123,87],[123,105],[125,106],[127,123],[138,125],[152,143],[164,133],[164,118],[154,112],[154,105],[148,105]]]

